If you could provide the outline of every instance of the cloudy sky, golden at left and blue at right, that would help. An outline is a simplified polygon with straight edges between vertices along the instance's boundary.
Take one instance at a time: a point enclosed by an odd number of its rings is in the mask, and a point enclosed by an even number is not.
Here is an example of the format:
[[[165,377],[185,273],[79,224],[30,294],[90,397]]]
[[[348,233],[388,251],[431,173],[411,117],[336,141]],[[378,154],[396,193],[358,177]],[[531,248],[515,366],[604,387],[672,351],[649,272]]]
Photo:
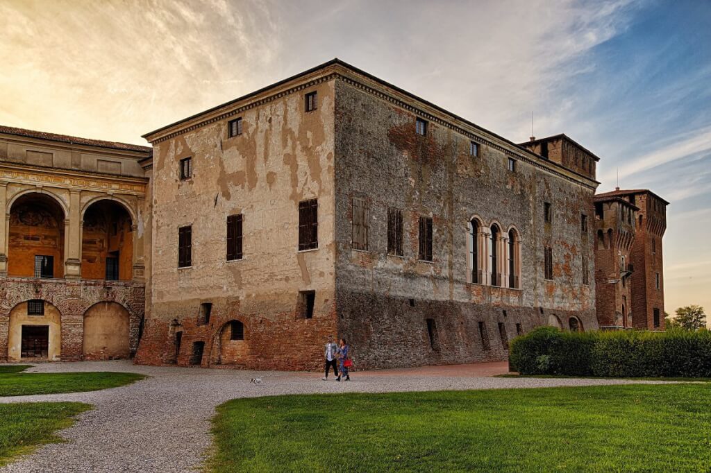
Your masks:
[[[709,0],[3,0],[0,124],[147,144],[340,58],[512,141],[533,112],[601,158],[599,192],[670,201],[665,309],[708,313],[710,25]]]

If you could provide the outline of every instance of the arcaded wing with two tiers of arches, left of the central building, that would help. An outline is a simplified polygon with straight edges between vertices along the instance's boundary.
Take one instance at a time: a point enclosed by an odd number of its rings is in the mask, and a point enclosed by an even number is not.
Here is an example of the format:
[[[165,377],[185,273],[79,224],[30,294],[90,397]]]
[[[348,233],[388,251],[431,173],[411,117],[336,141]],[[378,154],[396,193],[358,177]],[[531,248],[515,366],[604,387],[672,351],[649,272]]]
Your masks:
[[[136,351],[150,153],[0,126],[0,361]]]

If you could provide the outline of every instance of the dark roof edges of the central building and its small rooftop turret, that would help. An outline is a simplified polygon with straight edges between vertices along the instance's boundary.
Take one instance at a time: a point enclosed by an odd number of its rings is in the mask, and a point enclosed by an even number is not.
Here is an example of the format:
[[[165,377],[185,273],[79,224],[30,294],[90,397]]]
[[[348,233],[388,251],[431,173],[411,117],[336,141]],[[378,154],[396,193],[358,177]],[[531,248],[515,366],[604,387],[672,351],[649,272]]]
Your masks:
[[[166,126],[161,126],[161,128],[156,129],[156,130],[154,130],[154,131],[150,131],[149,133],[146,133],[146,134],[141,135],[141,136],[142,136],[143,138],[148,139],[148,137],[151,136],[151,135],[161,133],[161,131],[166,131],[166,130],[168,130],[168,129],[173,128],[174,126],[178,126],[178,125],[180,125],[180,124],[184,124],[184,123],[186,123],[186,122],[188,122],[188,121],[197,119],[197,118],[200,117],[200,116],[210,114],[211,112],[216,112],[216,111],[218,111],[219,109],[222,109],[222,108],[224,108],[224,107],[230,107],[230,105],[237,104],[237,102],[242,102],[242,101],[244,101],[244,100],[250,99],[250,98],[255,97],[255,96],[259,95],[259,94],[262,94],[262,93],[264,93],[264,92],[267,92],[269,89],[274,89],[274,88],[279,87],[279,86],[281,86],[281,85],[287,84],[288,82],[292,82],[292,81],[297,80],[297,79],[299,79],[299,78],[301,78],[301,77],[304,77],[304,76],[306,76],[306,75],[311,75],[311,74],[313,74],[314,72],[318,72],[319,70],[326,69],[326,67],[331,67],[331,66],[333,66],[333,65],[338,65],[338,66],[344,67],[344,68],[346,68],[347,70],[350,70],[351,72],[355,72],[355,74],[362,75],[363,77],[366,77],[366,78],[368,78],[368,79],[370,79],[370,80],[373,80],[374,82],[377,82],[377,83],[380,84],[380,85],[383,85],[383,86],[385,86],[385,87],[387,87],[387,88],[390,88],[390,89],[392,89],[392,90],[395,90],[395,92],[398,92],[398,93],[400,93],[400,94],[403,94],[403,95],[405,95],[406,97],[409,97],[410,99],[415,99],[417,102],[420,102],[420,103],[426,105],[427,107],[431,107],[432,109],[436,110],[437,112],[442,113],[442,114],[444,114],[444,115],[447,115],[447,116],[449,116],[449,118],[454,119],[455,121],[461,121],[462,123],[466,124],[467,126],[471,126],[472,128],[477,129],[477,130],[479,130],[479,131],[481,131],[481,132],[483,132],[483,133],[485,133],[485,134],[488,134],[488,135],[491,135],[491,136],[493,136],[493,137],[495,137],[495,138],[498,138],[498,139],[500,139],[501,141],[504,141],[505,143],[507,143],[508,145],[513,146],[513,147],[516,148],[518,151],[522,151],[523,153],[527,153],[529,156],[533,156],[533,157],[534,157],[535,159],[537,159],[537,160],[540,159],[540,160],[545,161],[546,163],[549,163],[550,165],[553,165],[553,166],[555,166],[555,167],[557,167],[557,168],[565,169],[568,173],[572,173],[572,174],[578,176],[579,178],[582,178],[582,179],[584,179],[584,180],[586,180],[586,181],[592,182],[592,183],[594,183],[594,184],[596,185],[596,187],[597,187],[597,185],[600,184],[600,182],[599,182],[598,180],[594,180],[594,179],[592,179],[592,178],[589,178],[587,175],[582,175],[582,174],[578,173],[577,171],[572,170],[572,169],[570,169],[570,168],[567,168],[567,167],[565,167],[564,165],[562,165],[562,164],[560,164],[560,163],[556,163],[555,161],[550,161],[550,160],[547,160],[547,159],[545,159],[545,158],[542,158],[542,156],[540,156],[540,155],[538,155],[538,154],[536,154],[536,153],[533,153],[533,151],[530,151],[530,149],[525,148],[525,146],[522,146],[522,145],[520,145],[520,144],[518,144],[518,143],[515,143],[515,142],[509,140],[508,138],[504,138],[503,136],[501,136],[501,135],[499,135],[499,134],[496,134],[496,133],[494,133],[493,131],[489,131],[488,129],[485,129],[485,128],[483,128],[482,126],[479,126],[479,125],[475,124],[475,123],[472,122],[472,121],[469,121],[469,120],[467,120],[467,119],[464,119],[463,117],[461,117],[461,116],[459,116],[459,115],[456,115],[456,114],[454,114],[454,113],[452,113],[452,112],[449,112],[447,109],[444,109],[444,108],[442,108],[442,107],[439,107],[439,105],[437,105],[437,104],[433,104],[432,102],[429,102],[429,101],[427,101],[427,100],[425,100],[425,99],[422,99],[421,97],[418,97],[417,95],[413,94],[412,92],[407,92],[407,90],[402,89],[402,88],[400,88],[400,87],[397,87],[397,85],[392,85],[392,84],[390,84],[390,82],[387,82],[387,81],[385,81],[385,80],[383,80],[383,79],[380,79],[380,77],[376,77],[376,76],[370,74],[369,72],[365,72],[365,71],[362,70],[362,69],[358,69],[358,67],[355,67],[355,66],[353,66],[353,65],[351,65],[351,64],[348,64],[348,62],[344,62],[343,60],[340,60],[340,59],[338,59],[338,58],[333,58],[333,59],[331,59],[331,60],[329,60],[329,61],[327,61],[327,62],[324,62],[324,63],[322,63],[322,64],[320,64],[320,65],[317,65],[316,67],[311,67],[311,69],[309,69],[309,70],[305,70],[305,71],[303,71],[303,72],[299,72],[299,73],[296,74],[296,75],[292,75],[292,76],[290,76],[290,77],[287,77],[286,79],[279,80],[279,82],[274,82],[274,83],[271,84],[271,85],[267,85],[266,87],[262,87],[261,89],[255,90],[254,92],[250,92],[249,94],[245,94],[245,95],[242,95],[242,96],[240,96],[240,97],[237,97],[236,99],[232,99],[232,100],[230,100],[229,102],[225,102],[225,103],[220,104],[220,105],[217,105],[217,106],[215,106],[215,107],[211,107],[210,109],[203,110],[203,112],[199,112],[199,113],[197,113],[197,114],[193,114],[193,115],[191,115],[191,116],[188,116],[188,117],[185,118],[185,119],[181,119],[181,120],[175,121],[175,122],[173,122],[173,123],[171,123],[171,124],[169,124],[169,125],[166,125]],[[570,139],[570,138],[568,138],[568,139]],[[573,140],[570,140],[570,141],[573,141]],[[573,143],[576,143],[576,142],[573,141]],[[578,146],[580,146],[578,143],[576,143],[576,144],[577,144]],[[583,148],[582,146],[580,146],[580,147]],[[585,148],[583,148],[583,149],[585,149]],[[587,151],[588,153],[590,153],[587,149],[585,149],[585,151]],[[592,156],[594,156],[594,158],[597,158],[597,156],[595,156],[593,153],[590,153],[590,154],[592,154]],[[599,158],[597,158],[597,159],[599,160]]]

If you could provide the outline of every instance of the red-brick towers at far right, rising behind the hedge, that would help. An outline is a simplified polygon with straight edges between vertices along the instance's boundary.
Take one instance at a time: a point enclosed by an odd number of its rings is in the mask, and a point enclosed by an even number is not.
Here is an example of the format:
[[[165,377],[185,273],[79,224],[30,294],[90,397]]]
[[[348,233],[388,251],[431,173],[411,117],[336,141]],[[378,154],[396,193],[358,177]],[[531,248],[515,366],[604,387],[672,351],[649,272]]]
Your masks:
[[[605,250],[596,254],[597,314],[601,326],[609,323],[610,310],[622,317],[622,327],[664,330],[664,272],[662,238],[669,202],[647,189],[604,192],[595,197],[595,214]],[[617,246],[609,251],[610,236]],[[619,266],[619,277],[616,278]],[[617,281],[615,282],[615,280]],[[614,302],[613,302],[614,301]],[[630,320],[631,318],[631,320]]]

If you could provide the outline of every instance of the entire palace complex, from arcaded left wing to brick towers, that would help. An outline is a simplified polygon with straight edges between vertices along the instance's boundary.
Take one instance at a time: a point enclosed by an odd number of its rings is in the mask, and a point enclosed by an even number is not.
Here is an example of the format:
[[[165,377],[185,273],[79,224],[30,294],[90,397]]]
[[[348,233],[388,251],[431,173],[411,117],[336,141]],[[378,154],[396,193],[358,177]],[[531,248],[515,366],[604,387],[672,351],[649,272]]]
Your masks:
[[[663,312],[665,202],[596,199],[565,135],[516,144],[333,60],[145,138],[0,127],[0,360],[320,369],[333,334],[361,369],[465,363]]]

